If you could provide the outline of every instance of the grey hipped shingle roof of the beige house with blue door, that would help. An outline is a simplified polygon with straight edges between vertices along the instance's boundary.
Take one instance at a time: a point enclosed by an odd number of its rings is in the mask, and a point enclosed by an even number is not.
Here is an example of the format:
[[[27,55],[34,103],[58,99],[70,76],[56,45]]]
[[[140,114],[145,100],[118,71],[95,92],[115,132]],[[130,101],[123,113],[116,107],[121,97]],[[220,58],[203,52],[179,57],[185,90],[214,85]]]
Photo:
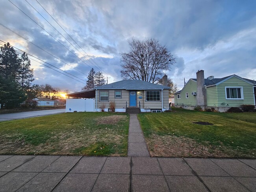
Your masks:
[[[127,89],[127,90],[141,90],[141,89],[170,89],[163,85],[149,83],[141,80],[122,80],[108,85],[95,87],[95,89]]]

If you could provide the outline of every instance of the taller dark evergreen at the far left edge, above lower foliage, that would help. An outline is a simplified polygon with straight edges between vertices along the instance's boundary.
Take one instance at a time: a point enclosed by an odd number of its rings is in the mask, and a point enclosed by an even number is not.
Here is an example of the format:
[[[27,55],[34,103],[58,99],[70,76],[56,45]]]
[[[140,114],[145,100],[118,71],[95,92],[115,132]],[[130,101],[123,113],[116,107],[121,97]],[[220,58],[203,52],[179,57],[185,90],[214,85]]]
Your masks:
[[[8,42],[1,46],[0,51],[0,74],[4,79],[12,78],[14,81],[19,79],[20,59]]]

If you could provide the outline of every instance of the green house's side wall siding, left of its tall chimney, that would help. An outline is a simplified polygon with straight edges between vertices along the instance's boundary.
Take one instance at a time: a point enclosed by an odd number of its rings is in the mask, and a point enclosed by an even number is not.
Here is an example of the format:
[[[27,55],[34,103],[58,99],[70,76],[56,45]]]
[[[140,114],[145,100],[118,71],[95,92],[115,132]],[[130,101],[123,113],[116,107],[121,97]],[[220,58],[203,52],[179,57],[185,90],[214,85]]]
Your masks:
[[[197,83],[193,80],[190,80],[180,92],[180,99],[177,98],[177,94],[174,95],[175,105],[197,105],[197,96],[191,95],[191,92],[197,92]],[[189,98],[186,98],[186,93]]]

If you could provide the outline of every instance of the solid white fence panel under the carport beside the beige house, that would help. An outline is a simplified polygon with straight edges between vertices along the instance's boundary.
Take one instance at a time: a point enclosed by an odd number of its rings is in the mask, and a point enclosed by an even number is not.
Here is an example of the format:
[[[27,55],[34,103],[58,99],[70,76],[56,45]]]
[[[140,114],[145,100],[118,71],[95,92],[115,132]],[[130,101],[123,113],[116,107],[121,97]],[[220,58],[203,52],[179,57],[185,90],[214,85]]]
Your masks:
[[[94,99],[67,99],[66,112],[94,112],[95,111]]]

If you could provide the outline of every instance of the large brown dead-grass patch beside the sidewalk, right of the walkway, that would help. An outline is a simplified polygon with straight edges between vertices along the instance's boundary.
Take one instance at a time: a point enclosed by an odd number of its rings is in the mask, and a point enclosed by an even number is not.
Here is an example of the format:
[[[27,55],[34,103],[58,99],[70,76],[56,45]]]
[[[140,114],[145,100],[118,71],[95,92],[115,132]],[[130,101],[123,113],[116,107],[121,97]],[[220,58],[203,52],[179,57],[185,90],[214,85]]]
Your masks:
[[[155,135],[146,138],[152,157],[232,157],[221,146],[204,146],[186,137]],[[234,151],[230,151],[234,153]],[[234,153],[234,157],[237,154]]]

